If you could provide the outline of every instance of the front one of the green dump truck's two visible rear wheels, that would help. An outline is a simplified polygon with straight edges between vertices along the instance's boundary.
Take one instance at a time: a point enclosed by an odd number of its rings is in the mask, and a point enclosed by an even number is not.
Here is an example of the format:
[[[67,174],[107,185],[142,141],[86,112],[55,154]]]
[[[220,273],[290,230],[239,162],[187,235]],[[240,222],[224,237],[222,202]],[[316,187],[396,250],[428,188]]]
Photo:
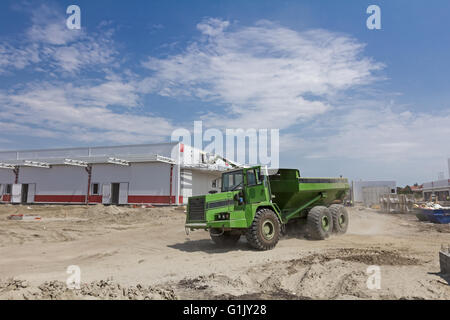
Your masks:
[[[327,207],[316,206],[309,210],[306,223],[309,237],[314,240],[324,240],[333,231],[333,218]]]

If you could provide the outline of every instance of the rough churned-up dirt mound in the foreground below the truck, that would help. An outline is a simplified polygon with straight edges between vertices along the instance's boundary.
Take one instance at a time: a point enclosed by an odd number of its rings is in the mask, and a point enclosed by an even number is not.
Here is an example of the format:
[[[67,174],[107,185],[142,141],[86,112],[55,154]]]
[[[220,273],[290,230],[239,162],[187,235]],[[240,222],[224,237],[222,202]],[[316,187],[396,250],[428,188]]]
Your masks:
[[[249,267],[236,277],[210,274],[185,278],[174,287],[181,297],[195,299],[371,299],[374,296],[395,299],[405,296],[368,289],[367,266],[420,264],[418,259],[396,250],[332,249]]]

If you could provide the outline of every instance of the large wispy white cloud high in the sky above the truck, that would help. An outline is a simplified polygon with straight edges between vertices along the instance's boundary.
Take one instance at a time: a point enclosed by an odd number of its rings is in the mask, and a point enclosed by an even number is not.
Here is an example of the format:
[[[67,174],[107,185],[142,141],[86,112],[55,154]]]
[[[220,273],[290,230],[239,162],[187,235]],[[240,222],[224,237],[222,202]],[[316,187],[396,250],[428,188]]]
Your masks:
[[[149,91],[225,106],[225,115],[203,116],[208,126],[288,128],[325,113],[333,94],[372,82],[382,68],[361,56],[362,44],[325,30],[267,21],[230,29],[219,19],[197,27],[202,39],[184,52],[143,65],[153,72]]]

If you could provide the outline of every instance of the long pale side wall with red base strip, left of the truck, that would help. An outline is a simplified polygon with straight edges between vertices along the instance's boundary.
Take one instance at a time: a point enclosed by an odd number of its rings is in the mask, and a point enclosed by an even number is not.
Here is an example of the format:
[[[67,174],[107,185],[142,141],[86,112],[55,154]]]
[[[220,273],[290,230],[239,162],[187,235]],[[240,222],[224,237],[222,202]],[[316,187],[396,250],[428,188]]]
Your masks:
[[[128,183],[127,203],[176,204],[179,197],[178,170],[173,166],[172,198],[170,198],[170,171],[167,163],[132,163],[130,166],[95,164],[92,166],[90,203],[102,203],[103,186],[111,183]],[[12,171],[8,176],[2,170],[2,184],[14,183]],[[99,184],[99,194],[94,195],[92,184]],[[19,184],[34,185],[35,203],[85,203],[88,173],[83,167],[52,166],[50,169],[21,167]],[[178,201],[177,201],[178,199]],[[10,198],[4,201],[10,201]]]

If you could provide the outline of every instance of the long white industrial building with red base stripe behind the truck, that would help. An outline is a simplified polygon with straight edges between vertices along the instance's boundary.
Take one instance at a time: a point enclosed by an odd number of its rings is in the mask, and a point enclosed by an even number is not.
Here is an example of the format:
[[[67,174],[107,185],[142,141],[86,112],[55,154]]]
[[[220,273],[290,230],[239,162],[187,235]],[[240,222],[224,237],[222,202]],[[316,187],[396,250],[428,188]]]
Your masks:
[[[182,143],[0,152],[0,201],[185,204],[231,165]]]

